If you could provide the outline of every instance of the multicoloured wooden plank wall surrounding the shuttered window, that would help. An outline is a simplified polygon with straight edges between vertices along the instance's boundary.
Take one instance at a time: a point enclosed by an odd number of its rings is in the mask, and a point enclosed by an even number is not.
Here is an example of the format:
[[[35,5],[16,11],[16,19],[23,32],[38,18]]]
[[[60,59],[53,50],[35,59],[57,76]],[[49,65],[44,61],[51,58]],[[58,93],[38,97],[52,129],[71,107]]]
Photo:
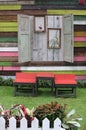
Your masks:
[[[17,14],[64,15],[74,14],[74,63],[28,62],[18,63]],[[75,73],[77,79],[86,79],[86,10],[31,10],[21,5],[0,5],[0,74],[15,75],[16,71],[30,71],[31,66],[57,66],[59,73]],[[60,67],[60,71],[59,71]],[[68,68],[68,69],[67,69]],[[44,69],[45,70],[45,69]],[[47,69],[48,70],[48,69]],[[52,70],[52,68],[50,69]],[[55,70],[53,70],[55,71]],[[13,73],[12,73],[13,72]]]

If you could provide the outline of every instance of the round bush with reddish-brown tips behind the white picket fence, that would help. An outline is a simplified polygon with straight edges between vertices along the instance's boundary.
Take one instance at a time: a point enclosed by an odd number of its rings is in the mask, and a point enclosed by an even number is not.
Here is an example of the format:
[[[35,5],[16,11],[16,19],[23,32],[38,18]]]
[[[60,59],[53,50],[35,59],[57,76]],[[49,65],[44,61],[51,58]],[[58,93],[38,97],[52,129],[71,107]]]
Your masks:
[[[42,120],[48,118],[50,121],[50,127],[53,127],[53,122],[57,117],[63,121],[66,116],[65,108],[66,105],[62,106],[57,102],[51,102],[50,104],[38,106],[34,111],[34,116],[38,118],[40,126],[42,126]]]

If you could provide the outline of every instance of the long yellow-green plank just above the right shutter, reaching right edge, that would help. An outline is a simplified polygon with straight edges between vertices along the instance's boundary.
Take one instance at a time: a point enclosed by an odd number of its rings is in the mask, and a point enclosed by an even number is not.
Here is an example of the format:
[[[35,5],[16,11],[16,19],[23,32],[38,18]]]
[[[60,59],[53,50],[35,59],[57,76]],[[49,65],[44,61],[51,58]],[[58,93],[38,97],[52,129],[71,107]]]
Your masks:
[[[58,15],[64,15],[64,14],[73,14],[73,15],[86,15],[86,10],[47,10],[47,14],[58,14]]]

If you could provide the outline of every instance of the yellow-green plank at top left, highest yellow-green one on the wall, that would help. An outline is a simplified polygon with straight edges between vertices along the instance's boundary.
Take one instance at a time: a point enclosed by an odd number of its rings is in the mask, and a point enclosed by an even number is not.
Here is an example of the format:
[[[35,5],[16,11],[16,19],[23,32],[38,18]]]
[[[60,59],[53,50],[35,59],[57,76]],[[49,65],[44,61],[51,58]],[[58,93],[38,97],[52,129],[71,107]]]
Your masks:
[[[21,5],[0,5],[0,10],[20,10]]]

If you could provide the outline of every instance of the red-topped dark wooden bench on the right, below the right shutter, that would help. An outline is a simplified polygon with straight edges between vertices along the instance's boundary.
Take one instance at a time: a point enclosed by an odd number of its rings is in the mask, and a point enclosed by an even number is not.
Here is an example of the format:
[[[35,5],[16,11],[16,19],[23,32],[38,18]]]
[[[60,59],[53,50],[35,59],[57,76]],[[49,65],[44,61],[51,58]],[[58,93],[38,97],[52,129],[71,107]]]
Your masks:
[[[56,97],[76,97],[76,85],[74,74],[55,74],[55,96]]]

